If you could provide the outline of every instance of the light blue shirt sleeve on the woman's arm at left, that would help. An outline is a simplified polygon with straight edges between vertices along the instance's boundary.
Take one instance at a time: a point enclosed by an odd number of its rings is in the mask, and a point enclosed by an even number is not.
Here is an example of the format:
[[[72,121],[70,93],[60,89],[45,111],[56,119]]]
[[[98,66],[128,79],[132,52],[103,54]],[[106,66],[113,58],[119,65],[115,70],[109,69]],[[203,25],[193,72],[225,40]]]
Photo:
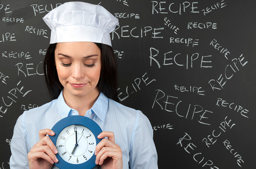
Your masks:
[[[10,168],[29,168],[28,152],[30,149],[25,125],[25,113],[23,113],[14,126],[14,134],[11,141]]]

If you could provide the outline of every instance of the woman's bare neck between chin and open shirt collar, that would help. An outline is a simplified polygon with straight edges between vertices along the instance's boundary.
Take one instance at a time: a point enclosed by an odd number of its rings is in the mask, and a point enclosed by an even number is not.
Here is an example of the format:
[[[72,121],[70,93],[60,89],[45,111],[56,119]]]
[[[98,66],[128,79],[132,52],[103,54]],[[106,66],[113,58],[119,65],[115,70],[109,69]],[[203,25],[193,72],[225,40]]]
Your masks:
[[[100,94],[99,90],[92,91],[83,96],[72,95],[69,91],[63,89],[63,97],[66,104],[77,110],[79,115],[84,116],[86,111],[93,107]]]

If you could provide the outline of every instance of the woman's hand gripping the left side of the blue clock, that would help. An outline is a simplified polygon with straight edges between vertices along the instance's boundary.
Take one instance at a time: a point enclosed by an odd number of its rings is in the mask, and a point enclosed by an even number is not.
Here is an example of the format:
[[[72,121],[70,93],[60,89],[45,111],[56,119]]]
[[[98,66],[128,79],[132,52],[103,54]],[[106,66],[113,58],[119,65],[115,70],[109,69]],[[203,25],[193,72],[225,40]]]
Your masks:
[[[57,148],[48,135],[55,133],[51,129],[41,129],[39,131],[40,140],[30,149],[28,153],[29,168],[51,168],[56,158]]]

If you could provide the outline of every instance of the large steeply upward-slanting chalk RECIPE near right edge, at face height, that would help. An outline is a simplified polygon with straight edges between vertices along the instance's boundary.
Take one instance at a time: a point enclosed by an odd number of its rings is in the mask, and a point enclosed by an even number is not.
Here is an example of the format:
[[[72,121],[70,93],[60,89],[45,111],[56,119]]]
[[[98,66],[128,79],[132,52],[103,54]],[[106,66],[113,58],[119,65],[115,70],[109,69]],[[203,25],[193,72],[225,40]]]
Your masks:
[[[223,89],[223,86],[226,84],[227,80],[231,79],[232,76],[234,75],[234,73],[239,71],[238,67],[240,67],[240,66],[243,67],[244,65],[246,65],[248,63],[248,61],[242,62],[243,59],[244,59],[244,56],[242,54],[239,56],[239,58],[233,58],[232,63],[226,65],[224,73],[220,74],[220,76],[217,80],[211,79],[208,83],[211,85],[212,90]],[[230,71],[231,71],[231,75],[230,75]],[[218,87],[215,86],[215,84],[216,84],[215,82],[217,82]]]

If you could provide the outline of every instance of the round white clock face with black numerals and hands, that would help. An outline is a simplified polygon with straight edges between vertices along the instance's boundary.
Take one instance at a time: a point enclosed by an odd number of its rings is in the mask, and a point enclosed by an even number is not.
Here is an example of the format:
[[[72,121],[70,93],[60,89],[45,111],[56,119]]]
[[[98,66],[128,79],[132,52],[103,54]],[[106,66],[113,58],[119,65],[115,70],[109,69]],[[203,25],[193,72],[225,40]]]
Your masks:
[[[66,162],[80,164],[95,153],[96,138],[86,126],[73,124],[60,131],[56,139],[59,156]]]

